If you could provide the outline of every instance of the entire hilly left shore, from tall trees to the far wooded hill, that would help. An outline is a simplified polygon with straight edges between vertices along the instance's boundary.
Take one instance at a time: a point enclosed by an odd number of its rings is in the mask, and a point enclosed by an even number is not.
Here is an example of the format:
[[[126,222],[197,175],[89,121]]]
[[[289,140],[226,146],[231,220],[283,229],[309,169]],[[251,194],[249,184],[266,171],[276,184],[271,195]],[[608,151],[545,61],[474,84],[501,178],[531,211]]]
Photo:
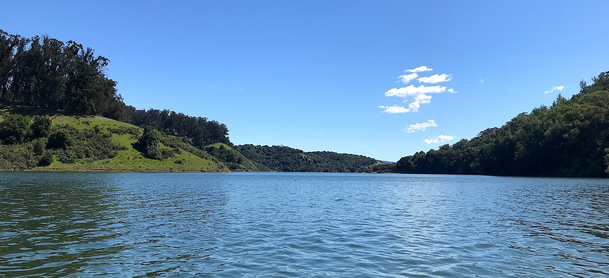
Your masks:
[[[376,172],[382,168],[382,162],[372,158],[328,151],[304,153],[265,146],[269,150],[260,156],[247,147],[233,148],[227,126],[216,120],[127,106],[117,94],[116,81],[106,74],[109,63],[74,41],[25,38],[0,30],[0,100],[6,118],[0,122],[0,170]]]

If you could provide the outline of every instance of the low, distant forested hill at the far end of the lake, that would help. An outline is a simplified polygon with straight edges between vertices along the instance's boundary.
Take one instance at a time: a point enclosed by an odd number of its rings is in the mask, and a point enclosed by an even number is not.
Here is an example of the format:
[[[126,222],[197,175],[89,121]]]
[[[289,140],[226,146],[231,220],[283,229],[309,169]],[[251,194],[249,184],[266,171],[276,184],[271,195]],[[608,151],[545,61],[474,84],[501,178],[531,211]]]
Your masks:
[[[373,158],[332,151],[305,152],[284,146],[236,145],[246,158],[281,172],[364,172],[366,166],[382,164]]]

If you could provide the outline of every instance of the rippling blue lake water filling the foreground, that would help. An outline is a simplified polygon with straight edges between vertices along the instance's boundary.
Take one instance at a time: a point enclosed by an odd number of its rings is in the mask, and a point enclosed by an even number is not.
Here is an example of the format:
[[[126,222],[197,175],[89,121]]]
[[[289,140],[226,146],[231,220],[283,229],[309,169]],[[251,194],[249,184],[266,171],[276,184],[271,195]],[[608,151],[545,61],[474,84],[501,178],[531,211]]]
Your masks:
[[[0,172],[0,276],[607,277],[609,179]]]

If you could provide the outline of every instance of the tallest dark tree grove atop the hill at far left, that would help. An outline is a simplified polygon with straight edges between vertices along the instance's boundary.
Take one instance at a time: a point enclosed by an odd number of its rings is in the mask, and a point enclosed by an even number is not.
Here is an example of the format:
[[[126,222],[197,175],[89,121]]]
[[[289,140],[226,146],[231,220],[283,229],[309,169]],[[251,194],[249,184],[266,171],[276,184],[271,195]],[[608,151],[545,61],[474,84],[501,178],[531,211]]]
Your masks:
[[[72,113],[104,114],[119,105],[109,60],[74,41],[24,38],[0,30],[0,97]]]

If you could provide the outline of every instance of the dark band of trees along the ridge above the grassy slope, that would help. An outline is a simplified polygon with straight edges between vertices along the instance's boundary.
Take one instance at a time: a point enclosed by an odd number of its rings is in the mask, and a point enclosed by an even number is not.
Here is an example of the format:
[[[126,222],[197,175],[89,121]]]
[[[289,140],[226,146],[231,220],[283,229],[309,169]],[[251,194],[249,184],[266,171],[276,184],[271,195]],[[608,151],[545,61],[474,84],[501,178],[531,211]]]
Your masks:
[[[116,82],[105,74],[108,63],[108,58],[96,56],[93,49],[74,41],[24,38],[0,30],[0,99],[62,114],[149,125],[187,137],[198,148],[214,143],[232,145],[226,125],[215,120],[125,105],[116,94]]]

